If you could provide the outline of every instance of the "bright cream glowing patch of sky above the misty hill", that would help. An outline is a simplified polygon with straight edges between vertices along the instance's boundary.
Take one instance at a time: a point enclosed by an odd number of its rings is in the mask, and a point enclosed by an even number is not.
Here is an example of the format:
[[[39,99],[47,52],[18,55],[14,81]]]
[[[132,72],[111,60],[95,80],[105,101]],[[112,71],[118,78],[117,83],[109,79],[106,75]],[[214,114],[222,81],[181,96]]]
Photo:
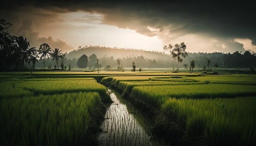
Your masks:
[[[78,11],[61,14],[60,18],[63,19],[61,23],[66,25],[67,30],[72,30],[68,34],[73,36],[69,36],[69,38],[73,38],[74,47],[100,45],[155,51],[163,45],[157,36],[148,37],[135,30],[119,29],[102,24],[103,15],[98,13]],[[67,30],[65,35],[67,35]],[[156,29],[152,29],[152,31],[156,31]],[[54,34],[56,38],[63,38],[64,35],[60,31]]]

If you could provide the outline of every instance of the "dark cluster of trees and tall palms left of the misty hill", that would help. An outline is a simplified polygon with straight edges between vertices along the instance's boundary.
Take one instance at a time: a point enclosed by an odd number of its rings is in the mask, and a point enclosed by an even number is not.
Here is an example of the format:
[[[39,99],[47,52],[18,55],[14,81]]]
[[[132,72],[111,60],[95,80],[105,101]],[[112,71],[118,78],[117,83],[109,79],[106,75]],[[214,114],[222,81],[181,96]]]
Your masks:
[[[20,71],[27,68],[33,70],[38,58],[43,60],[45,69],[46,58],[49,58],[49,56],[56,60],[57,68],[59,68],[58,60],[63,59],[65,54],[61,53],[58,48],[51,49],[47,43],[41,44],[38,50],[36,47],[31,47],[27,38],[9,34],[8,30],[11,25],[4,19],[0,20],[1,71]],[[31,63],[32,66],[30,66]]]

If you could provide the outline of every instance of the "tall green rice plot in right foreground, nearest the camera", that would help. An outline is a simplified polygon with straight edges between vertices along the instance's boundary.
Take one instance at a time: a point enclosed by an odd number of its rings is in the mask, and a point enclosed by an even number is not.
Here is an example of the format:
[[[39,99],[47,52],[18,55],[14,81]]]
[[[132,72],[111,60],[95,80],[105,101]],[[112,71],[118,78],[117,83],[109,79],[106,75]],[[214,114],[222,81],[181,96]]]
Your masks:
[[[226,104],[227,112],[222,103]],[[215,99],[169,98],[162,111],[186,122],[191,137],[204,135],[214,145],[256,143],[256,96]]]

